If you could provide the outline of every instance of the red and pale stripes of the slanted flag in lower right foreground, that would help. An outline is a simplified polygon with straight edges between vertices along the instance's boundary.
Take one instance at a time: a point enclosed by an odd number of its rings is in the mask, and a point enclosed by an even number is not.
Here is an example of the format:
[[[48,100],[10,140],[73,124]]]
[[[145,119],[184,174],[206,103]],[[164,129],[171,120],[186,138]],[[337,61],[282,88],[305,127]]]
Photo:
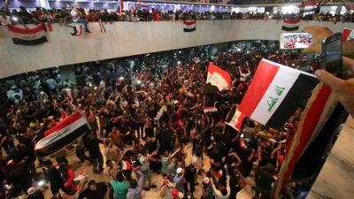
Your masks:
[[[306,160],[304,158],[306,157],[306,149],[324,129],[326,123],[334,123],[330,118],[337,103],[335,94],[326,85],[320,83],[313,90],[312,97],[308,100],[302,113],[296,134],[289,143],[288,152],[281,165],[279,179],[274,184],[272,195],[281,195],[281,191],[288,185],[289,179],[299,179],[296,174],[303,173],[301,169],[308,167],[308,164],[304,161]],[[323,142],[323,140],[320,142]],[[302,161],[304,162],[301,164]],[[298,170],[297,173],[296,170]],[[303,179],[304,177],[301,176],[300,178]],[[275,198],[274,196],[273,198]]]

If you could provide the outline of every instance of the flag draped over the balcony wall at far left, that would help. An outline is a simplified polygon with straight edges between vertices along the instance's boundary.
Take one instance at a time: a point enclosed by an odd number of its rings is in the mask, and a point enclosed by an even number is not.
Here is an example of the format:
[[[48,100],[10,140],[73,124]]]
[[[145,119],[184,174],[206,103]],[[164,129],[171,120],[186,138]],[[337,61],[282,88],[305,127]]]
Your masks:
[[[12,32],[12,42],[19,45],[37,45],[48,42],[44,24],[8,25]]]

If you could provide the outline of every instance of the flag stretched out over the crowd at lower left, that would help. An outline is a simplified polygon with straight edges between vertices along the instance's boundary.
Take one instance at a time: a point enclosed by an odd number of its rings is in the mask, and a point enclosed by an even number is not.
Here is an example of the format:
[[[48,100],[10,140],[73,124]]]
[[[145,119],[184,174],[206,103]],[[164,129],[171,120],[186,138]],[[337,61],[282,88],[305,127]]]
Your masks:
[[[35,154],[46,157],[65,148],[89,130],[84,111],[76,111],[57,126],[44,133],[44,138],[35,144]]]

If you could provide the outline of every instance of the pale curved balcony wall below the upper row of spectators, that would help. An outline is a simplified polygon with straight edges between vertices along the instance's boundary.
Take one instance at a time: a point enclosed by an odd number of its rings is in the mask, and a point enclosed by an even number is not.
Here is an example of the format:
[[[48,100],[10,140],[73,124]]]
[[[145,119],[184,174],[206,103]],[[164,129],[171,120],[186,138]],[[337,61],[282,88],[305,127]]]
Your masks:
[[[300,25],[329,27],[334,32],[354,23],[309,21]],[[73,28],[52,24],[49,42],[36,46],[15,45],[7,27],[0,27],[0,78],[58,65],[127,57],[237,40],[278,40],[279,20],[198,20],[196,31],[183,32],[182,21],[114,22],[102,34],[98,23],[89,23],[90,34],[73,36]]]

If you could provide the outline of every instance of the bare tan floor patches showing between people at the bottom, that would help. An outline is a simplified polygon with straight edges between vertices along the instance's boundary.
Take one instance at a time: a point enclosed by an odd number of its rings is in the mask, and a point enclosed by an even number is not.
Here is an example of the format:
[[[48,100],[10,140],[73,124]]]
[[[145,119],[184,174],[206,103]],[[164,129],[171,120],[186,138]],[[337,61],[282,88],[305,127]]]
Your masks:
[[[191,149],[192,149],[192,145],[189,143],[186,146],[185,152],[187,152],[188,157],[186,158],[186,165],[190,164],[190,160],[191,160]],[[101,146],[101,150],[102,152],[104,151],[104,146]],[[67,157],[69,160],[69,164],[72,166],[73,170],[75,171],[76,175],[79,175],[79,173],[81,173],[81,171],[84,171],[85,173],[87,173],[89,175],[89,180],[96,180],[96,181],[104,181],[104,174],[100,173],[100,174],[95,174],[92,172],[92,167],[89,164],[89,162],[84,162],[82,164],[79,163],[79,159],[75,156],[75,151],[74,149],[68,150],[67,151]],[[52,160],[53,162],[55,162],[55,160]],[[105,159],[104,159],[105,162]],[[210,167],[209,165],[209,158],[204,156],[204,169],[208,170]],[[38,169],[38,172],[42,171],[42,169]],[[198,182],[200,184],[202,184],[202,180],[203,180],[204,176],[198,176]],[[241,192],[238,193],[237,195],[237,199],[250,199],[253,197],[253,190],[251,189],[251,186],[254,185],[253,180],[250,180],[249,178],[247,179],[249,181],[248,185],[242,189]],[[155,185],[158,186],[158,188],[152,188],[150,189],[150,191],[142,191],[142,198],[143,199],[158,199],[160,198],[159,196],[159,188],[161,188],[163,180],[162,180],[162,175],[160,174],[156,174],[153,173],[152,174],[152,181]],[[196,191],[194,193],[194,195],[196,196],[197,199],[200,198],[200,196],[202,195],[202,187],[201,185],[196,186]],[[50,198],[51,197],[51,193],[50,190],[45,191],[45,198]]]

